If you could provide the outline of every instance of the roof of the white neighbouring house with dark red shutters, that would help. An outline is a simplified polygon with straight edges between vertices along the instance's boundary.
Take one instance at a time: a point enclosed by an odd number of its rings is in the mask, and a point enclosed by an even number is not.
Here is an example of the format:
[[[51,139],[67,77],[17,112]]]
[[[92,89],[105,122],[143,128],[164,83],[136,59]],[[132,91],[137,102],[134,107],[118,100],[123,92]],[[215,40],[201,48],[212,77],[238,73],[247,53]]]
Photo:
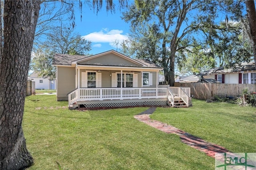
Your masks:
[[[250,63],[241,63],[241,65],[234,65],[233,68],[228,68],[225,69],[224,66],[222,67],[216,67],[213,69],[209,69],[207,71],[202,72],[202,75],[210,75],[214,73],[232,73],[232,72],[239,72],[239,71],[252,71],[255,70],[255,63],[250,62]]]

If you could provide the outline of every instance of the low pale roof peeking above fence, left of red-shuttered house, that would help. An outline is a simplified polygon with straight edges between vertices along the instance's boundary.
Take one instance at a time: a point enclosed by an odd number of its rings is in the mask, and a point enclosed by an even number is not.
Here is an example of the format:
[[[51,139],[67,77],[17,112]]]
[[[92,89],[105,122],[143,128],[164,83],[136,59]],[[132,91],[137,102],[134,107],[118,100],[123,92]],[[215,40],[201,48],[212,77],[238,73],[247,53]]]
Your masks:
[[[215,79],[205,79],[202,75],[183,76],[179,79],[179,83],[220,83]]]

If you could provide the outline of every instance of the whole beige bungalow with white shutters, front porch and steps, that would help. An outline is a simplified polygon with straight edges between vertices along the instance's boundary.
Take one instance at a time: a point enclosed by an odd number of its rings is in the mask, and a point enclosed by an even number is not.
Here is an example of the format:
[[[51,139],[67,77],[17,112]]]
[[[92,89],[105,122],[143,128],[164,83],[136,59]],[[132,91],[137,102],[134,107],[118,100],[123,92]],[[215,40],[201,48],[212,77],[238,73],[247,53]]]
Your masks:
[[[188,107],[190,89],[160,87],[158,65],[114,50],[92,56],[56,54],[57,100],[80,107]],[[187,95],[189,94],[189,95]]]

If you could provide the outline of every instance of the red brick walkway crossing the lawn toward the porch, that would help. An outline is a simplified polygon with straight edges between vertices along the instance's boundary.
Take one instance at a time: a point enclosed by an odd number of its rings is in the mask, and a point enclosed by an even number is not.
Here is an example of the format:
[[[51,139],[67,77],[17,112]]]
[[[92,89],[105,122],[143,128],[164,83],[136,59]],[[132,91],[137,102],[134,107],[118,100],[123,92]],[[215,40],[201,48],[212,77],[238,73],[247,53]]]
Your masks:
[[[140,113],[139,115],[135,115],[134,118],[138,121],[146,123],[151,127],[157,128],[165,133],[173,133],[180,136],[180,139],[183,143],[187,144],[188,146],[200,150],[204,152],[208,156],[215,158],[215,153],[223,153],[226,152],[227,154],[231,154],[226,148],[219,146],[217,144],[213,144],[210,142],[206,142],[205,140],[193,136],[192,134],[186,133],[183,130],[180,130],[172,125],[168,125],[166,123],[162,123],[160,121],[151,120],[149,115],[155,111],[155,107],[151,107],[145,112]],[[222,160],[222,158],[218,159]]]

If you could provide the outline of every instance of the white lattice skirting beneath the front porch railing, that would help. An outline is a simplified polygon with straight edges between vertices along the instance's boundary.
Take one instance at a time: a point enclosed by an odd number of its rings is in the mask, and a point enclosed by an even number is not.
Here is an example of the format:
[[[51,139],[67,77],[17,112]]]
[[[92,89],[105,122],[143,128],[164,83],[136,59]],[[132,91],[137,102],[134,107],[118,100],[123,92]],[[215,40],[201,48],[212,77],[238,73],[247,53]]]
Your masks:
[[[110,101],[78,101],[84,107],[126,107],[126,106],[166,106],[167,99],[129,99]]]

